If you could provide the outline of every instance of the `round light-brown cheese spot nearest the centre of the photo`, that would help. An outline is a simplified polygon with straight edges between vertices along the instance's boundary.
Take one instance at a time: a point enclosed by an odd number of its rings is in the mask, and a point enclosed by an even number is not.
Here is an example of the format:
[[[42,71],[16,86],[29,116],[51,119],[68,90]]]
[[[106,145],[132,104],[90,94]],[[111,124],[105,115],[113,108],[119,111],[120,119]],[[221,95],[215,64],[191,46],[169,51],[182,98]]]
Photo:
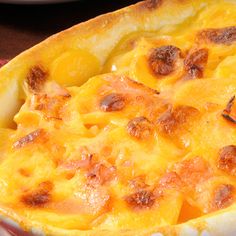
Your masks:
[[[146,117],[140,116],[129,121],[127,132],[137,139],[148,139],[154,132],[154,125]]]

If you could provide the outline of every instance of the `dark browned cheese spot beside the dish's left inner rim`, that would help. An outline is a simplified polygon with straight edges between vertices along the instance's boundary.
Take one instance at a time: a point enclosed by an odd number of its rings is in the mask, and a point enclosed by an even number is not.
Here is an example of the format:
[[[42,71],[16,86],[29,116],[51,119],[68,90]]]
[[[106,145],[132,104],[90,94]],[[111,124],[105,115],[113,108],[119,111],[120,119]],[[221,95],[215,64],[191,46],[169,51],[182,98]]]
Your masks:
[[[33,92],[39,92],[47,76],[48,73],[41,65],[31,67],[26,77],[29,89]]]

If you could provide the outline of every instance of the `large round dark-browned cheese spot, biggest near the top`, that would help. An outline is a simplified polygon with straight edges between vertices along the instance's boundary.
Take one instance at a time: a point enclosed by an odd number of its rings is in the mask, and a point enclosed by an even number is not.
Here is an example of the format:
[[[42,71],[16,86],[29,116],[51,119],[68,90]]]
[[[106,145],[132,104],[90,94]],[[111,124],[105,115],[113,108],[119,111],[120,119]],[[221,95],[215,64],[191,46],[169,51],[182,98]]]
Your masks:
[[[148,63],[151,71],[156,76],[169,75],[175,69],[175,62],[180,56],[180,49],[172,46],[161,46],[152,49]]]

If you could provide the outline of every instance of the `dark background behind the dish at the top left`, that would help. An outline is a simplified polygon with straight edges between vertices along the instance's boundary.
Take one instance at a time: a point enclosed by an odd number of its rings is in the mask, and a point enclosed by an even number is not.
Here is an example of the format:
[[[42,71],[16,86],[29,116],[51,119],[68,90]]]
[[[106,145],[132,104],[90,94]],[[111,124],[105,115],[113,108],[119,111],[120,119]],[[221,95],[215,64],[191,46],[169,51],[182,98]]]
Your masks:
[[[56,32],[136,2],[138,0],[78,0],[49,5],[0,3],[0,59],[11,59]]]

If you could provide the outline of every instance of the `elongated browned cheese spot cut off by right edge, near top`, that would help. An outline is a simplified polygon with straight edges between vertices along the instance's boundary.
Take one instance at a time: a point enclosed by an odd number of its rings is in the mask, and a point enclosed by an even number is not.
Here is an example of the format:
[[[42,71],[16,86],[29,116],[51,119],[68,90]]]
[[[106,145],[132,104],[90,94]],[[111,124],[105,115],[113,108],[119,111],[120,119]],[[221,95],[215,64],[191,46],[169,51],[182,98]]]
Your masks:
[[[215,44],[231,44],[236,41],[236,26],[204,29],[198,33],[197,39]]]

